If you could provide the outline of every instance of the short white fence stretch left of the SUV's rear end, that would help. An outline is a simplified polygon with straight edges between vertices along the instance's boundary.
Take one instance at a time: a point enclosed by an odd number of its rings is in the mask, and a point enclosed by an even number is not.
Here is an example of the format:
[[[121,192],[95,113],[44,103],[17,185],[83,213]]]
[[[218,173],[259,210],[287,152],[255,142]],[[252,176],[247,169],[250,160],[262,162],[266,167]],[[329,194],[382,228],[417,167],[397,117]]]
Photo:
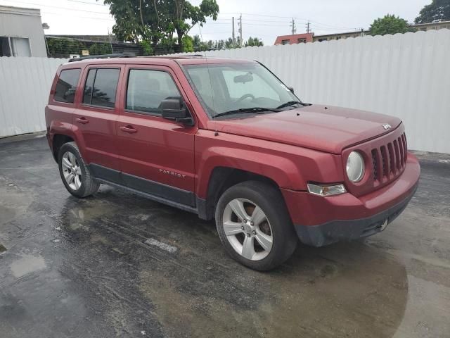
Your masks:
[[[0,137],[46,129],[44,108],[63,58],[0,57]]]

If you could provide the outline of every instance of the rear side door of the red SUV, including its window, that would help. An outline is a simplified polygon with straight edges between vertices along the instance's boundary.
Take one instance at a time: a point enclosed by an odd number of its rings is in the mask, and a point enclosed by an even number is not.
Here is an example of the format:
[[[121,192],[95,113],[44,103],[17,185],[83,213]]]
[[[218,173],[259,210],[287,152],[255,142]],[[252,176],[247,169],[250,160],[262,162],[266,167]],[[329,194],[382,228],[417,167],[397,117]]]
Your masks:
[[[82,134],[84,160],[94,175],[120,181],[115,123],[118,117],[120,65],[91,65],[84,70],[84,86],[73,124]]]

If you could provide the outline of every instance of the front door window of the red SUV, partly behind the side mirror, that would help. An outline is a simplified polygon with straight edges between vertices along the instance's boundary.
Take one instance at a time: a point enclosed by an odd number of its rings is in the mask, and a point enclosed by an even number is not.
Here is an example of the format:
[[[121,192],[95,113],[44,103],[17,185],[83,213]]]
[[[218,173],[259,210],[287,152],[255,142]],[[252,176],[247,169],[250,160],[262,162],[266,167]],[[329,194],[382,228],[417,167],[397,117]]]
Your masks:
[[[169,73],[145,69],[129,71],[126,106],[128,110],[160,114],[162,100],[180,97],[178,88]]]

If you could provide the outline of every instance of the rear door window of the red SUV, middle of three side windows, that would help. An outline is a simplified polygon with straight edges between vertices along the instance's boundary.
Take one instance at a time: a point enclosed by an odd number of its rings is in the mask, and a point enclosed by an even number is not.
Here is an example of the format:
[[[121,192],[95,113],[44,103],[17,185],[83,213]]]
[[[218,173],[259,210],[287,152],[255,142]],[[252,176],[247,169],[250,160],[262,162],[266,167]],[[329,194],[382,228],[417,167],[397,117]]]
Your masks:
[[[83,104],[113,108],[120,69],[90,69],[84,84]]]

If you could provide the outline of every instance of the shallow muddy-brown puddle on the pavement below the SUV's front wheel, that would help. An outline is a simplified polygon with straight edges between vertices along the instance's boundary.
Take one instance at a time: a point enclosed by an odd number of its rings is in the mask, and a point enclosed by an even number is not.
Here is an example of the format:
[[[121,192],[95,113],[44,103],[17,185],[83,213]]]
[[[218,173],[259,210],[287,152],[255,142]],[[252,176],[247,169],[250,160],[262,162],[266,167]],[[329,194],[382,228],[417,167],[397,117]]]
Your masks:
[[[216,278],[198,257],[175,263],[141,265],[139,274],[170,337],[391,337],[406,306],[404,266],[361,244],[303,247],[278,273],[236,265]]]

